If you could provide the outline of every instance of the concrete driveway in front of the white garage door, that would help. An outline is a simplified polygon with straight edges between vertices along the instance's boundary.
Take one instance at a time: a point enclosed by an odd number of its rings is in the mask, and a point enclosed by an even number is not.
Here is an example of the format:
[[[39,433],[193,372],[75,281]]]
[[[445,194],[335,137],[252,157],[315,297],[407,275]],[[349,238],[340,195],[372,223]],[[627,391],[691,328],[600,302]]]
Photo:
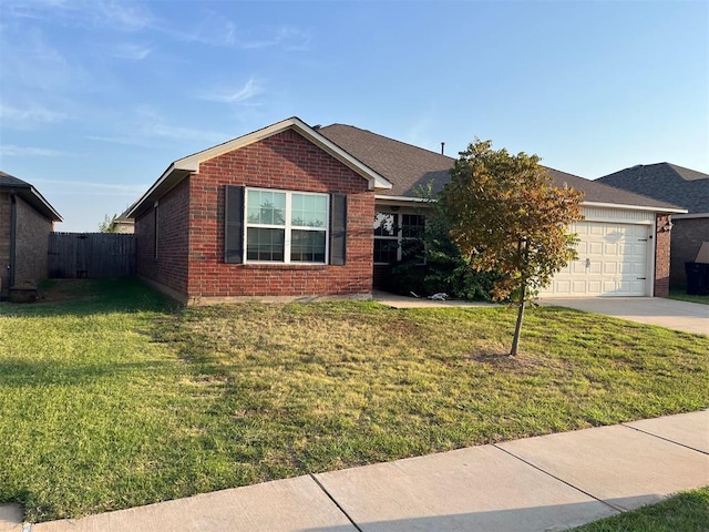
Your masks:
[[[555,297],[540,299],[537,303],[605,314],[696,335],[709,335],[709,305],[699,303],[662,297]]]

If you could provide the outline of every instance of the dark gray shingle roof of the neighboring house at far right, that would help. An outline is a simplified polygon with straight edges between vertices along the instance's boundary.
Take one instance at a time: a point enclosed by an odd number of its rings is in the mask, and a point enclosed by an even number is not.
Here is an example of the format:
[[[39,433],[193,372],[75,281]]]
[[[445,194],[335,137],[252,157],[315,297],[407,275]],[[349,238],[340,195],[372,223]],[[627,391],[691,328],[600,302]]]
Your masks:
[[[680,205],[689,213],[709,213],[709,175],[676,164],[638,164],[596,181]]]

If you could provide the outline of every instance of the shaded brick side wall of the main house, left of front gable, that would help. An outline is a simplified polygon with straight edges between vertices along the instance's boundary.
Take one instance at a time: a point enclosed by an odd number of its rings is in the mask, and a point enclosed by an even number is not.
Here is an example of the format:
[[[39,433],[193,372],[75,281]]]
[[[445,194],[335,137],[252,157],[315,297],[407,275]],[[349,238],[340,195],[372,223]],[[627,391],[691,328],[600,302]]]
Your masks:
[[[187,294],[189,181],[184,180],[160,198],[157,255],[155,209],[148,208],[135,221],[137,274],[181,294]]]

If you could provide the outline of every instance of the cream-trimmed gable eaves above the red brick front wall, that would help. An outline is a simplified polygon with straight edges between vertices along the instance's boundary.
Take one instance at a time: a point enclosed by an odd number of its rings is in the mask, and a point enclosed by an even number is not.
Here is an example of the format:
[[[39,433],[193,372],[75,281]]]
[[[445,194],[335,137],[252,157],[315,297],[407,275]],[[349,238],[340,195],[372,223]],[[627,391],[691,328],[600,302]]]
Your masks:
[[[163,175],[153,184],[153,186],[151,186],[151,188],[137,202],[135,202],[133,206],[130,207],[126,216],[135,216],[146,205],[150,205],[151,202],[163,196],[191,173],[198,172],[201,163],[218,157],[225,153],[239,150],[244,146],[248,146],[249,144],[263,141],[264,139],[268,139],[287,130],[296,131],[312,144],[317,145],[350,170],[361,175],[369,182],[370,190],[391,188],[391,183],[387,177],[369,167],[362,161],[353,157],[350,153],[342,150],[326,136],[321,135],[318,130],[310,127],[300,119],[294,116],[175,161],[167,167],[167,170],[165,170]]]

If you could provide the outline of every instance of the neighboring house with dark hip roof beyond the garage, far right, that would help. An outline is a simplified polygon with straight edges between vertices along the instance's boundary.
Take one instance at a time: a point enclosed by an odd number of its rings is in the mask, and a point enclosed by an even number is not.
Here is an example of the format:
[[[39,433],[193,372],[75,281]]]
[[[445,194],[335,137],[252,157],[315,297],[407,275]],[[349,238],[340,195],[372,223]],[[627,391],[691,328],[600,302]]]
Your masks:
[[[655,200],[685,207],[672,215],[670,283],[685,286],[685,263],[692,262],[701,243],[709,241],[709,174],[676,164],[638,164],[596,180]]]

